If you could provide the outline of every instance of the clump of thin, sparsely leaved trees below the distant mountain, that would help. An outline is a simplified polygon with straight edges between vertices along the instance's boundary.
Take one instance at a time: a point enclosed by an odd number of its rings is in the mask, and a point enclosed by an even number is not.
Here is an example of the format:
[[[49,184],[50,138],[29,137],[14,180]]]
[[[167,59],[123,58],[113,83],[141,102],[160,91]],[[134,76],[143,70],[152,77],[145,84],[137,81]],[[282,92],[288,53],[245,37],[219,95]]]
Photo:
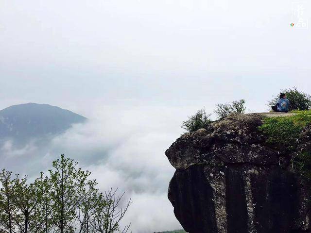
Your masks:
[[[131,200],[121,207],[116,191],[99,193],[91,172],[61,155],[53,162],[49,176],[29,183],[27,176],[12,178],[0,173],[0,233],[126,233],[121,219]]]

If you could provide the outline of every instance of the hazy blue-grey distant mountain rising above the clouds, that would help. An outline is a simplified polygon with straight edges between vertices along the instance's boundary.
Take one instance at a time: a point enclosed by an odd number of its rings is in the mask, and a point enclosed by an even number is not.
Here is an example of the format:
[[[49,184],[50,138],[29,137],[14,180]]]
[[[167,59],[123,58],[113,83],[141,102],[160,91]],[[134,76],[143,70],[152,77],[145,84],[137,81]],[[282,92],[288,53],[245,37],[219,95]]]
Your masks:
[[[26,103],[0,111],[0,139],[17,141],[63,133],[86,117],[49,104]]]

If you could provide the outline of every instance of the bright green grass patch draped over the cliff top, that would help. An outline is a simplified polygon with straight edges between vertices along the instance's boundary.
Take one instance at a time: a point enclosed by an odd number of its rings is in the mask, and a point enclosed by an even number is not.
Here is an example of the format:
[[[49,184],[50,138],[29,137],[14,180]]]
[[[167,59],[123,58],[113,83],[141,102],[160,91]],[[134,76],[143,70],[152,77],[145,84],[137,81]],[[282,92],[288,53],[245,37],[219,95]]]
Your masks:
[[[304,127],[311,124],[311,110],[293,111],[295,116],[265,118],[259,130],[267,142],[287,150],[294,150],[296,141]]]

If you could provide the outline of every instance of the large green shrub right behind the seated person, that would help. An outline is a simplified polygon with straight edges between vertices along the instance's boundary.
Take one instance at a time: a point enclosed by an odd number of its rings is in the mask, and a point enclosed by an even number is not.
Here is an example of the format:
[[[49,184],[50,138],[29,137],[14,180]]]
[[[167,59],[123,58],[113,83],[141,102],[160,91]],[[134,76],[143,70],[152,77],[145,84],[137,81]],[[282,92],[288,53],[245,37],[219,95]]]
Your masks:
[[[281,90],[282,93],[285,93],[287,99],[290,100],[289,111],[293,110],[309,110],[311,107],[311,96],[298,91],[296,87]],[[269,101],[268,105],[276,105],[279,100],[279,95],[273,97],[271,101]]]

